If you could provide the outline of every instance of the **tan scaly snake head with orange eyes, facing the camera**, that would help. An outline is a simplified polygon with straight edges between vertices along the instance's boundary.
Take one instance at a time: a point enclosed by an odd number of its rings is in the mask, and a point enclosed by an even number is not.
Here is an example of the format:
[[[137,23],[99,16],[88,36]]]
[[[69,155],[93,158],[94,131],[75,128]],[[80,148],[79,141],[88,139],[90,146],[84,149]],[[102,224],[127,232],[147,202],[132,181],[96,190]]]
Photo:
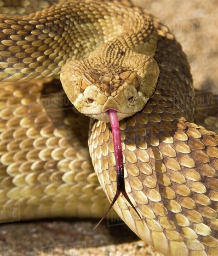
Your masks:
[[[152,57],[146,57],[143,72],[137,67],[93,62],[70,61],[61,71],[63,89],[80,113],[109,122],[109,109],[116,111],[118,120],[142,110],[155,90],[159,75]]]

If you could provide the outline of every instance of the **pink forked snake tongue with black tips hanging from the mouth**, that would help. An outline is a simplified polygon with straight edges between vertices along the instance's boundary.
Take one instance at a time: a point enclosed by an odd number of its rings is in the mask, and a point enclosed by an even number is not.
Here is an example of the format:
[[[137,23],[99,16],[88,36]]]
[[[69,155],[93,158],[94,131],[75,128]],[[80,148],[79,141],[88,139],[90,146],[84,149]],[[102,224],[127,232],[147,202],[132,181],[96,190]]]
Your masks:
[[[132,206],[132,208],[136,211],[139,218],[142,220],[141,216],[139,215],[137,209],[132,204],[132,202],[129,199],[129,196],[126,193],[125,189],[125,179],[124,179],[124,166],[123,166],[123,154],[122,154],[122,147],[121,147],[121,136],[120,136],[120,125],[117,118],[116,111],[114,109],[109,109],[107,111],[109,114],[110,119],[110,125],[111,130],[113,134],[113,142],[114,142],[114,150],[115,150],[115,163],[116,163],[116,194],[111,202],[109,208],[107,209],[106,213],[103,215],[101,220],[98,222],[98,224],[95,226],[94,230],[97,228],[97,226],[102,222],[104,217],[108,214],[109,210],[112,208],[114,203],[116,202],[117,198],[122,195],[126,198],[126,200],[129,202],[129,204]]]

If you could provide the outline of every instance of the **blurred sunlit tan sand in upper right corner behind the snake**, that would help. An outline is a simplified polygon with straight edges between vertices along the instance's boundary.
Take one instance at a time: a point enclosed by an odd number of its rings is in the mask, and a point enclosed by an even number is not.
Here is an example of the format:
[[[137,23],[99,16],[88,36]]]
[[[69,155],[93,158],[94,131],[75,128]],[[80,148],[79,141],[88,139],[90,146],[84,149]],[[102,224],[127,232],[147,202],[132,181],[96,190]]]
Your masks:
[[[218,90],[218,1],[137,0],[181,43],[196,89]]]

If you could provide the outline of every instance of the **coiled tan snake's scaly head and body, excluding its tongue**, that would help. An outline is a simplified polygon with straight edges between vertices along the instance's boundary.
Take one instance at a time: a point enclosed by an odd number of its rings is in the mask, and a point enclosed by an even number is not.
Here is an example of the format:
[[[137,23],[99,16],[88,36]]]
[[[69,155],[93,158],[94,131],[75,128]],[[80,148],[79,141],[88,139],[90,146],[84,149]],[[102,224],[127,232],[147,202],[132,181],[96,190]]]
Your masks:
[[[0,221],[102,217],[116,192],[114,108],[141,218],[123,196],[116,213],[164,255],[217,255],[218,136],[193,123],[180,44],[130,1],[43,3],[0,15]]]

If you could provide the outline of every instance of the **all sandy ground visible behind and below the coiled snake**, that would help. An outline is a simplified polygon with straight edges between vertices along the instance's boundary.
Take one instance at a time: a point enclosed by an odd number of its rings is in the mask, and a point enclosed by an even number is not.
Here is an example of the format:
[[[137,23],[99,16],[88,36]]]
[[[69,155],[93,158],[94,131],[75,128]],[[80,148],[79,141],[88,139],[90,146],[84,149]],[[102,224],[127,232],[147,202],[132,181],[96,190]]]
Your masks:
[[[218,91],[218,2],[216,0],[138,0],[161,18],[188,56],[195,88]],[[43,220],[0,226],[3,256],[158,256],[123,223],[97,220]]]

